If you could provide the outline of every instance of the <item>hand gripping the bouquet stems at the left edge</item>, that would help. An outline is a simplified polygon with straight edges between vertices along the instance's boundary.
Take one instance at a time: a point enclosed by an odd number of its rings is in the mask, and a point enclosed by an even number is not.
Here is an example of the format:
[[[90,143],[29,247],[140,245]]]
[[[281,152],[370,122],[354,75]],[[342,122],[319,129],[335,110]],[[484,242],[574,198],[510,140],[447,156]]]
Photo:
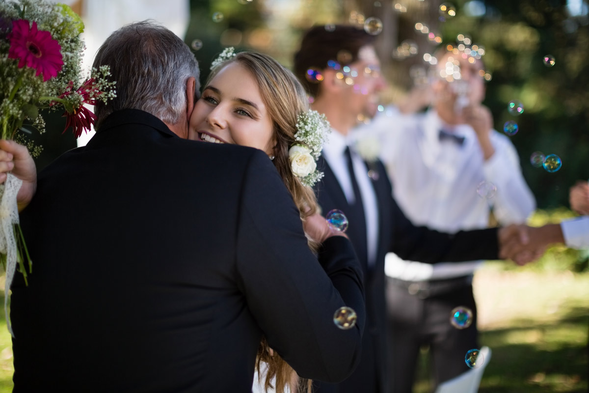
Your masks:
[[[37,190],[37,168],[27,147],[15,141],[0,140],[0,183],[6,181],[10,172],[22,180],[16,196],[19,212],[27,207]]]

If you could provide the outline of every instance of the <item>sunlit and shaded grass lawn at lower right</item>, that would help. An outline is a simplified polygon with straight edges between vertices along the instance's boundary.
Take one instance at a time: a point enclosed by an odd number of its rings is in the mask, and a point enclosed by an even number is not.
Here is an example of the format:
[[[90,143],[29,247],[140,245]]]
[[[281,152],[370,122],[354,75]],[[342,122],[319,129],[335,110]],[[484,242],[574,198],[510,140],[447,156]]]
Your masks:
[[[474,288],[481,345],[492,350],[479,392],[588,391],[589,273],[505,271],[488,262]],[[426,392],[425,353],[415,393]]]

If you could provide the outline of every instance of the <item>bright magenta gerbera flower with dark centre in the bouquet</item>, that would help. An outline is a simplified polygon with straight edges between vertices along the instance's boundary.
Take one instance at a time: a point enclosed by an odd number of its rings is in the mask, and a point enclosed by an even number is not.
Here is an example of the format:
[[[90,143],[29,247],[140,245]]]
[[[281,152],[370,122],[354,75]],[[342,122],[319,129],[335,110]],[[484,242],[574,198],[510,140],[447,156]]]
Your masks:
[[[61,47],[48,31],[38,31],[37,22],[29,28],[29,21],[19,19],[12,21],[12,32],[8,35],[10,49],[8,57],[18,59],[18,68],[27,67],[37,70],[36,76],[43,74],[43,81],[56,77],[64,65]]]

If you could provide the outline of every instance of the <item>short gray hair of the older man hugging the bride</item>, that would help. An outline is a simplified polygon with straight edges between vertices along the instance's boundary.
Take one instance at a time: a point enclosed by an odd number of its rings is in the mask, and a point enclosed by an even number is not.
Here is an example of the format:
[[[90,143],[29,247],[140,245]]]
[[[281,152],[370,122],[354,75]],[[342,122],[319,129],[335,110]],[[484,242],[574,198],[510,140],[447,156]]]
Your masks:
[[[186,82],[196,78],[198,62],[188,45],[173,32],[153,21],[124,26],[98,49],[94,68],[110,66],[110,79],[117,81],[117,97],[95,106],[96,127],[114,111],[140,109],[167,124],[176,124],[186,111]]]

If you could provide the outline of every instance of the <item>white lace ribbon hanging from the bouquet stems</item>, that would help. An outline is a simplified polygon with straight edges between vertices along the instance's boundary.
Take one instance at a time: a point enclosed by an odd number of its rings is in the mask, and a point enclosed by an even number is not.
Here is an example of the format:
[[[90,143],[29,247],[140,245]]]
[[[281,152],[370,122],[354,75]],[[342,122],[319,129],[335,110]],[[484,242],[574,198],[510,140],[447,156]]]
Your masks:
[[[18,250],[16,249],[16,236],[14,224],[18,224],[18,205],[16,195],[21,188],[22,180],[8,173],[4,184],[0,184],[0,253],[6,255],[6,284],[4,286],[4,313],[6,314],[6,326],[14,337],[10,318],[8,315],[8,299],[10,286],[16,270]]]

